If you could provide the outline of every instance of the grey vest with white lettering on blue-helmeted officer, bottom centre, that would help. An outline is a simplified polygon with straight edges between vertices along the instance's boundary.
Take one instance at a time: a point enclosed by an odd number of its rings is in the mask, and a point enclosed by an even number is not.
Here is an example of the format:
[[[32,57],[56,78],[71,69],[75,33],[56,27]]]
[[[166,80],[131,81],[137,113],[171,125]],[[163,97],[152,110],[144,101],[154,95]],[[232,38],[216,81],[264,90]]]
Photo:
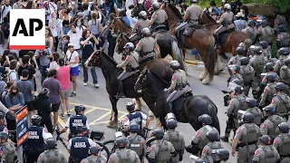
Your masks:
[[[142,137],[140,135],[135,136],[134,138],[130,136],[127,137],[129,142],[127,143],[127,149],[134,150],[139,158],[144,154],[144,145],[141,143]]]

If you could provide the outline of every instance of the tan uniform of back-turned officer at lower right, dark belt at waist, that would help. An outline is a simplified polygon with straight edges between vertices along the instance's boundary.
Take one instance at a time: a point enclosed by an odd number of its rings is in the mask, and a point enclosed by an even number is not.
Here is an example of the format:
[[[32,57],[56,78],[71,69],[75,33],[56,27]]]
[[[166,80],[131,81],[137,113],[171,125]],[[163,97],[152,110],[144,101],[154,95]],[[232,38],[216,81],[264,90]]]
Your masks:
[[[237,163],[251,162],[257,149],[256,143],[260,136],[260,128],[255,123],[245,123],[236,131],[234,141],[237,146]]]

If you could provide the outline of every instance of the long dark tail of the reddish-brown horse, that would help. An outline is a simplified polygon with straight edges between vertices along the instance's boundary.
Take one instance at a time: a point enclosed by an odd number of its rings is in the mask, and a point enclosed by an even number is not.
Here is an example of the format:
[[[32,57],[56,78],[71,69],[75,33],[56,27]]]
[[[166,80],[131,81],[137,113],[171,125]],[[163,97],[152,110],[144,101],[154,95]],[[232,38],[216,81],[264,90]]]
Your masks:
[[[208,71],[209,81],[214,79],[215,64],[216,64],[216,52],[214,48],[215,39],[213,36],[208,36],[208,53],[205,59],[205,66]]]

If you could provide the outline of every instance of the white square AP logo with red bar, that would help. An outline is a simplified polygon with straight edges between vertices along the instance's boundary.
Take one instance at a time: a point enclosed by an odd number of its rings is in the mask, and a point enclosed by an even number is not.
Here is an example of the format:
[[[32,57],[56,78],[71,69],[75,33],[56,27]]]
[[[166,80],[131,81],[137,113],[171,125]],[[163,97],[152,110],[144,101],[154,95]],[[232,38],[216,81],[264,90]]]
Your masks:
[[[40,9],[10,10],[10,49],[45,49],[44,12]]]

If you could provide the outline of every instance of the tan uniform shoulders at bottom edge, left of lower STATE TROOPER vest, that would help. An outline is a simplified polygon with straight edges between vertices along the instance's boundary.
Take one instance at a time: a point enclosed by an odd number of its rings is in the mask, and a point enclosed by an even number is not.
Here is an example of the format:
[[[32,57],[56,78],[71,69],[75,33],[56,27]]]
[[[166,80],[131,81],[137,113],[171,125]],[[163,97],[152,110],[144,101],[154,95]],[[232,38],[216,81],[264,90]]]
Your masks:
[[[59,149],[47,149],[39,155],[37,163],[67,163],[67,159]]]

